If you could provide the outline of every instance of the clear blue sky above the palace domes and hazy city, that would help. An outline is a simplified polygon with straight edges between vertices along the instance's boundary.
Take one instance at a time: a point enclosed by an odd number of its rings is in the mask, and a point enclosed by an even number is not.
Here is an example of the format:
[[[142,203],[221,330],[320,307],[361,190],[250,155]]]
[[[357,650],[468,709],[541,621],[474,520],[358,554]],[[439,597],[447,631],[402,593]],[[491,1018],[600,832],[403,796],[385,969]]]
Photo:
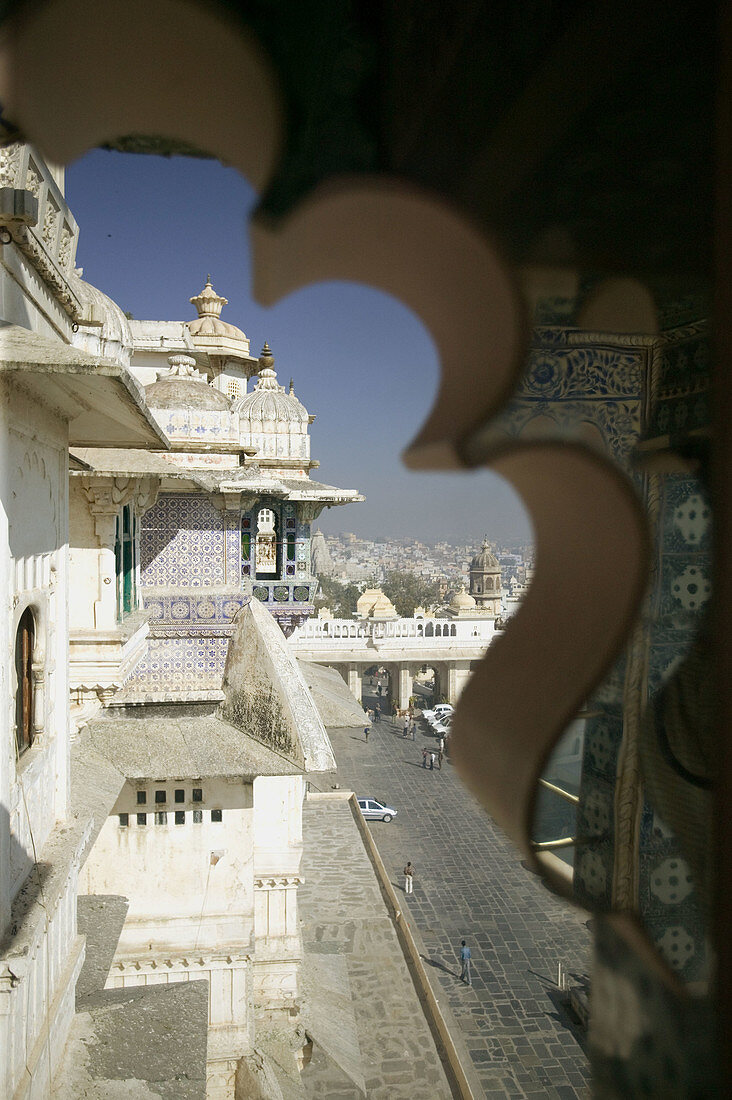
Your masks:
[[[498,476],[418,474],[400,453],[437,388],[437,355],[411,310],[371,287],[319,283],[271,309],[251,296],[248,216],[256,196],[215,161],[96,150],[66,169],[84,277],[139,319],[188,320],[210,272],[259,354],[269,341],[278,381],[317,419],[319,481],[358,488],[364,504],[324,512],[326,532],[479,542],[528,539],[514,492]]]

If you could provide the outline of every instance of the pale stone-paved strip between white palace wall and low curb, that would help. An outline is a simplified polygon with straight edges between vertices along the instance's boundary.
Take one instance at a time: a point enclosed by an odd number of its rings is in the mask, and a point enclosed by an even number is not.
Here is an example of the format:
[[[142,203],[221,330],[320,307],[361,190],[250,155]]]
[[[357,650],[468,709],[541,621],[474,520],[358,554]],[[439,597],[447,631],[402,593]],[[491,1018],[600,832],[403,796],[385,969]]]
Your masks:
[[[329,1026],[320,1021],[319,1032],[308,1027],[316,1045],[302,1075],[306,1094],[449,1100],[452,1092],[348,802],[306,802],[303,842],[303,946],[308,969],[317,969],[320,959],[321,980],[329,979],[334,990]],[[328,1058],[329,1053],[340,1057]]]

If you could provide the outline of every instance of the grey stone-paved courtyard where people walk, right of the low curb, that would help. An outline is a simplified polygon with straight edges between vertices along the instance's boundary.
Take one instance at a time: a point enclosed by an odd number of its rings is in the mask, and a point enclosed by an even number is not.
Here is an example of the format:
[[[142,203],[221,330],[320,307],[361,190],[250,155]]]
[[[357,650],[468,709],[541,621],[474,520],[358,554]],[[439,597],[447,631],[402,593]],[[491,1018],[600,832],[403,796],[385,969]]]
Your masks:
[[[570,979],[587,976],[586,915],[524,869],[448,758],[441,771],[422,768],[423,746],[436,744],[425,723],[417,723],[415,741],[386,719],[374,724],[368,744],[360,730],[329,733],[338,761],[330,781],[398,810],[390,824],[370,828],[485,1096],[587,1097],[581,1035],[556,987],[560,961]],[[401,873],[407,859],[416,869],[408,898]],[[470,988],[459,980],[463,938],[472,952]]]

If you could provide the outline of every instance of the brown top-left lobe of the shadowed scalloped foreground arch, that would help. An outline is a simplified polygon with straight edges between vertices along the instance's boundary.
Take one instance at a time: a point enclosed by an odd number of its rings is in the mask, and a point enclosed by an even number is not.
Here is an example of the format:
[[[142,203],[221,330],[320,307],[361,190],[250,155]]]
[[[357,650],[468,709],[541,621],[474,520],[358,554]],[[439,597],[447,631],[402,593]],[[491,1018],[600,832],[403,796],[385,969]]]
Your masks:
[[[254,35],[190,0],[26,7],[0,36],[0,100],[57,164],[124,134],[164,135],[261,190],[282,142],[277,81]]]

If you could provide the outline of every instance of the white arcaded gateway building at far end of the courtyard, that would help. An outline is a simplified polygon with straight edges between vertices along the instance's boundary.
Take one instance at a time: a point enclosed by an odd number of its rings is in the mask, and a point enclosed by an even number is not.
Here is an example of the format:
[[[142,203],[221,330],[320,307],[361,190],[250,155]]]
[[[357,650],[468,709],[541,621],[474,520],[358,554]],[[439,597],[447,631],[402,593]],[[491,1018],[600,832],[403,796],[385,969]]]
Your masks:
[[[435,698],[455,703],[496,635],[495,619],[392,618],[307,619],[293,630],[289,646],[301,660],[337,669],[361,701],[363,673],[386,669],[390,696],[400,710],[409,705],[415,674],[435,673]]]

